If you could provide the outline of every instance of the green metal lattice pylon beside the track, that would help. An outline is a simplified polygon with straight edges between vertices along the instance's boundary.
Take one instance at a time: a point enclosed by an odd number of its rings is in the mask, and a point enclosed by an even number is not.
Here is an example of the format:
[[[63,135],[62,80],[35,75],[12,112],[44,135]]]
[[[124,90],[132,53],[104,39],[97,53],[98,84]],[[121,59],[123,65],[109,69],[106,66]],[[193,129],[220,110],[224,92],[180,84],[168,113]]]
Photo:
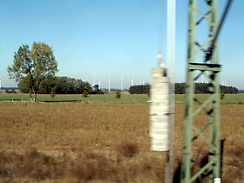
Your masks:
[[[202,3],[199,6],[199,2]],[[218,0],[190,0],[188,27],[187,83],[184,115],[183,155],[181,165],[181,183],[209,182],[219,180],[221,171],[220,151],[220,112],[219,112],[219,72],[217,36],[229,9],[229,0],[222,19],[218,22]],[[201,42],[198,42],[201,30]],[[205,34],[205,40],[203,41]],[[199,61],[204,55],[203,61]],[[209,83],[209,95],[200,101],[195,95],[195,81],[200,76]],[[195,119],[199,113],[205,113],[207,120],[199,124]],[[194,119],[195,118],[195,119]],[[199,119],[199,118],[198,118]],[[201,127],[200,127],[201,126]],[[196,144],[197,142],[197,144]],[[193,156],[196,147],[204,153],[205,161],[199,162]],[[200,155],[199,155],[200,156]],[[202,158],[203,159],[203,158]]]

